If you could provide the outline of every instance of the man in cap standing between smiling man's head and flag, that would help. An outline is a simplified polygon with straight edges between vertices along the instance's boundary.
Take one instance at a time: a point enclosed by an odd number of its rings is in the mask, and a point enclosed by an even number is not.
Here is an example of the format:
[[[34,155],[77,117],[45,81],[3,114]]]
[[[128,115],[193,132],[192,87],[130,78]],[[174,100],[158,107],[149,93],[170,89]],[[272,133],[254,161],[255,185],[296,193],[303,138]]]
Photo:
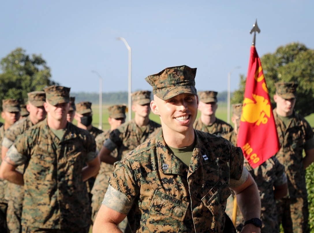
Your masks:
[[[232,126],[216,117],[218,108],[216,91],[199,91],[198,109],[201,116],[194,122],[194,128],[203,132],[222,136],[233,130]]]

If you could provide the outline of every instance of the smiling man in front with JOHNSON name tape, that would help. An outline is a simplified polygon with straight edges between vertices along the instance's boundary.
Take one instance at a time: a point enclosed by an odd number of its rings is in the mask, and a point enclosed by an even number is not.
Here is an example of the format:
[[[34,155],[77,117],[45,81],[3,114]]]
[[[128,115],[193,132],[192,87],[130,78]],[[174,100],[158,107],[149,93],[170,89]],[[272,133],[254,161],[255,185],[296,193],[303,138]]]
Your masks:
[[[126,216],[133,232],[234,232],[225,214],[230,188],[245,220],[251,219],[243,232],[260,232],[254,221],[259,194],[241,148],[193,129],[195,75],[196,69],[183,65],[146,78],[162,130],[115,163],[94,233],[121,232],[117,224]]]

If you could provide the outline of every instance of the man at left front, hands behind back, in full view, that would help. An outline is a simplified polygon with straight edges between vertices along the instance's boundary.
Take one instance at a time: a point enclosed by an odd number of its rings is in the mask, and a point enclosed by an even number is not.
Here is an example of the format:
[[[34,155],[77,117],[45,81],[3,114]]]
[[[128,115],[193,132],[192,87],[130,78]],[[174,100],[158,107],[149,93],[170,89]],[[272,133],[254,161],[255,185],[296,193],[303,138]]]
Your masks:
[[[83,181],[98,173],[95,138],[67,122],[70,88],[45,88],[47,118],[9,148],[0,177],[24,185],[22,231],[89,231],[91,213]],[[27,164],[24,175],[16,167]]]

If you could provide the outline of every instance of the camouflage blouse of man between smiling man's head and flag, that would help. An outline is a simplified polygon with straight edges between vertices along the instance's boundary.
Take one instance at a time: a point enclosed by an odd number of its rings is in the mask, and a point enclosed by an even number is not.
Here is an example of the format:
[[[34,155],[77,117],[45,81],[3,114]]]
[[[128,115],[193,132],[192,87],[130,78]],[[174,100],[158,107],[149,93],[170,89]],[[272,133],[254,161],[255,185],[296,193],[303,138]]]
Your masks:
[[[196,120],[193,124],[194,129],[200,130],[203,132],[208,132],[217,136],[223,136],[224,134],[230,133],[233,131],[233,128],[230,124],[227,122],[224,122],[218,118],[216,118],[216,121],[213,124],[211,132],[208,131],[208,128],[206,125],[201,121],[201,118],[199,117],[198,120]]]

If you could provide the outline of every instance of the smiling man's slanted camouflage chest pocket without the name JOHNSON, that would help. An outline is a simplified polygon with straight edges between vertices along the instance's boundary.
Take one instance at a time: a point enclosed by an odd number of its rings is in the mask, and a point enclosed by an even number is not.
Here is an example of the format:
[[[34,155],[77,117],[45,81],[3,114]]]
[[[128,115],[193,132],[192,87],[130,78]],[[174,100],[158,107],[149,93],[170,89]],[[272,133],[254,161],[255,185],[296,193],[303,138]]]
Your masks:
[[[204,205],[215,215],[225,208],[231,190],[224,179],[220,179],[213,188],[202,198]]]

